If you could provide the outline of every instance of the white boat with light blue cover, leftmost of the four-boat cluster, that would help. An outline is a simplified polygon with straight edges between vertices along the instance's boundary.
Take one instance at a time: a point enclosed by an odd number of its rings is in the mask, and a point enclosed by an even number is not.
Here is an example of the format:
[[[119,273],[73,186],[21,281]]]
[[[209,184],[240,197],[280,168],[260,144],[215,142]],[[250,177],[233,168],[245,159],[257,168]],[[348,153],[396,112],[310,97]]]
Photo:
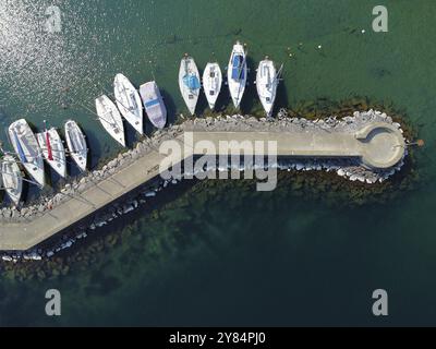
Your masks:
[[[202,86],[197,65],[194,59],[187,55],[180,62],[179,87],[187,109],[191,115],[194,115]]]

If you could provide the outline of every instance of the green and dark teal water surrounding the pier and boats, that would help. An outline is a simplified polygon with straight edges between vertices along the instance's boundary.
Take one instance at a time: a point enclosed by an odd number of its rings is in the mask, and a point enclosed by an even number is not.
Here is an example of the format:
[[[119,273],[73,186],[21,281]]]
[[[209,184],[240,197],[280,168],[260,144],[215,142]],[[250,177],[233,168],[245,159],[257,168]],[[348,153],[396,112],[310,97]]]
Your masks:
[[[193,190],[157,219],[144,215],[120,230],[132,233],[93,267],[44,282],[2,277],[1,325],[436,323],[434,1],[385,1],[387,34],[372,31],[373,1],[59,0],[60,34],[43,29],[49,4],[0,3],[1,127],[19,117],[39,129],[44,119],[62,127],[74,118],[92,166],[119,148],[84,106],[94,109],[117,72],[135,85],[154,75],[170,113],[186,113],[177,83],[182,55],[198,67],[215,56],[225,67],[237,39],[247,44],[251,80],[265,55],[286,63],[279,106],[368,97],[402,111],[426,146],[417,188],[385,205],[336,207],[237,183]],[[245,112],[259,110],[254,95],[252,84]],[[223,94],[219,108],[229,103]],[[202,97],[198,112],[206,106]],[[62,292],[60,318],[44,315],[48,288]],[[378,288],[390,296],[382,320],[371,314]]]

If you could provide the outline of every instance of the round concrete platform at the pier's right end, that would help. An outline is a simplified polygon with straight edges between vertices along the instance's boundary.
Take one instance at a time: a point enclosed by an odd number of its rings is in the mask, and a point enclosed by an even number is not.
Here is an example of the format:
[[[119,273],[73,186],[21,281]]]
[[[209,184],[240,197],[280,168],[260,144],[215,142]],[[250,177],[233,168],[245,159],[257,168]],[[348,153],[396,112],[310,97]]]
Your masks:
[[[396,166],[405,154],[405,142],[400,130],[388,123],[372,123],[356,132],[361,142],[362,164],[373,169]]]

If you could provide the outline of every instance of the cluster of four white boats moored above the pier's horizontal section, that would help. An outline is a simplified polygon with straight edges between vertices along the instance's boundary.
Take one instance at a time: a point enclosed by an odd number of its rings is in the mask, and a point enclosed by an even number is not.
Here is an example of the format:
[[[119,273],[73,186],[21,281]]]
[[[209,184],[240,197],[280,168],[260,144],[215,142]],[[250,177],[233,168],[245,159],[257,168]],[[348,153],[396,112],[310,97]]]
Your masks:
[[[249,73],[246,58],[247,51],[241,43],[237,41],[227,68],[227,84],[235,108],[239,108],[246,87]],[[272,113],[282,70],[283,65],[277,70],[268,57],[261,61],[257,69],[255,84],[267,117],[270,117]],[[202,77],[206,99],[210,109],[214,110],[223,81],[219,64],[217,62],[208,62]],[[202,84],[198,68],[194,59],[187,55],[182,58],[180,63],[179,87],[187,109],[191,115],[194,115]]]

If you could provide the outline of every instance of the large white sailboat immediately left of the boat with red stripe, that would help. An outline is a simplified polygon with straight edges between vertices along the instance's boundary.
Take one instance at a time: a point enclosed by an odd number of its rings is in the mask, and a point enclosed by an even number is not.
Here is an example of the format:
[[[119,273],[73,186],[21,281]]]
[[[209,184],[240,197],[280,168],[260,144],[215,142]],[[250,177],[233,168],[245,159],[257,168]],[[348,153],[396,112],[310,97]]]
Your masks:
[[[12,123],[9,137],[27,173],[43,188],[46,182],[43,152],[27,121],[20,119]]]

